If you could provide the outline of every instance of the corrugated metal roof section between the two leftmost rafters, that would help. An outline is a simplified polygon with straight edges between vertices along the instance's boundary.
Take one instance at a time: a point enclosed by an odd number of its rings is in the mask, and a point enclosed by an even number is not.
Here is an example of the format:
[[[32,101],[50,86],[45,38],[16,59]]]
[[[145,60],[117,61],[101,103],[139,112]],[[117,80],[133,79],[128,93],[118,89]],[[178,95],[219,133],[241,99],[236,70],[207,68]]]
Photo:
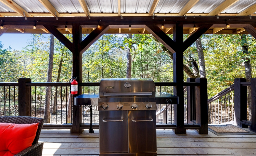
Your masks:
[[[26,10],[29,13],[49,13],[49,11],[38,0],[13,0],[13,2],[20,5],[24,10]]]

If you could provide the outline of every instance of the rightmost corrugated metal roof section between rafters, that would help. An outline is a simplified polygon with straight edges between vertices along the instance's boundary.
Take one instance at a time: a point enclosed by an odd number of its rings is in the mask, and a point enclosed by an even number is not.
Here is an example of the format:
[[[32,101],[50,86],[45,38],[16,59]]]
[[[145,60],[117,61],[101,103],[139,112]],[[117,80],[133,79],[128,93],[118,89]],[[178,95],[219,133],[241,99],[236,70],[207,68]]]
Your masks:
[[[240,13],[255,3],[256,0],[240,0],[221,13]]]

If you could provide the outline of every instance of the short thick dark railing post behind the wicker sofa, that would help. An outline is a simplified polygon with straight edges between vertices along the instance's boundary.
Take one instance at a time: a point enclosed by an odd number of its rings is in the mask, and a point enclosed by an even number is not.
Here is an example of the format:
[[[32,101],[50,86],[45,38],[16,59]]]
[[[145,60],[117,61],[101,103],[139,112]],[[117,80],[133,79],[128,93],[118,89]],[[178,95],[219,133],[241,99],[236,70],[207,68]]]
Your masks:
[[[31,116],[31,87],[26,86],[29,82],[31,82],[30,78],[18,79],[19,116]]]

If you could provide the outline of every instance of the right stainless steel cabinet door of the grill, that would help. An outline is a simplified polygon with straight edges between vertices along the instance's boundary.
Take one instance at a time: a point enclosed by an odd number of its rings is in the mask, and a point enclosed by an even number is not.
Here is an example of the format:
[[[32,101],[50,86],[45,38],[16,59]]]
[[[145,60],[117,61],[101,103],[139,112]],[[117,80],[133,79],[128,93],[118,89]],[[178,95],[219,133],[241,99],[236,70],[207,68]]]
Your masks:
[[[156,111],[128,111],[129,153],[156,152]]]

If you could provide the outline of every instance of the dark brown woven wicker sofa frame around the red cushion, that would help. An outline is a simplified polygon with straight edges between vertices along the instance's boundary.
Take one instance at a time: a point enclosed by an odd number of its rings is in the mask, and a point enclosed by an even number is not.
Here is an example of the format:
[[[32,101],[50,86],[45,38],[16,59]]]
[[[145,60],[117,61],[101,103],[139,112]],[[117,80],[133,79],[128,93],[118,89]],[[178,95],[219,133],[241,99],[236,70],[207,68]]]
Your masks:
[[[44,119],[42,118],[34,118],[29,116],[0,116],[1,123],[13,123],[13,124],[32,124],[39,123],[36,137],[32,143],[32,146],[27,149],[21,151],[15,156],[41,156],[43,150],[43,142],[38,143],[39,136],[41,133],[41,129],[43,127]]]

